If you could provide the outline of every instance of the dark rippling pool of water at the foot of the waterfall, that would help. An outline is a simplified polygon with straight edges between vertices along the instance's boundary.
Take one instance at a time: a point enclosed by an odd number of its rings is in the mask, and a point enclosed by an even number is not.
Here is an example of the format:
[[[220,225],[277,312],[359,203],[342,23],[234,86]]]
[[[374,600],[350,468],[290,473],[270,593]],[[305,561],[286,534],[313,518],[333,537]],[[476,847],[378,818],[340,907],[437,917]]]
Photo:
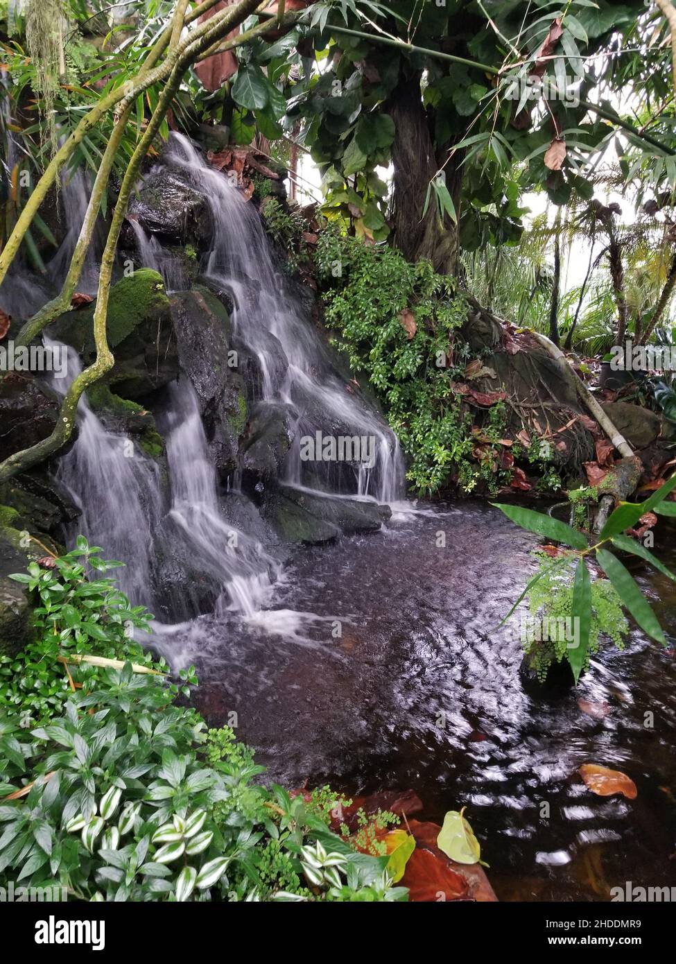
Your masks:
[[[667,537],[656,552],[673,565]],[[497,510],[463,503],[299,550],[270,606],[321,620],[289,641],[203,617],[172,641],[174,656],[196,662],[211,723],[236,712],[271,779],[355,795],[411,788],[439,822],[466,805],[500,899],[676,886],[674,584],[632,567],[671,648],[635,630],[577,690],[545,691],[519,672],[518,623],[491,629],[526,585],[535,542]],[[588,715],[580,699],[607,714]],[[637,798],[586,790],[581,763],[626,772]]]

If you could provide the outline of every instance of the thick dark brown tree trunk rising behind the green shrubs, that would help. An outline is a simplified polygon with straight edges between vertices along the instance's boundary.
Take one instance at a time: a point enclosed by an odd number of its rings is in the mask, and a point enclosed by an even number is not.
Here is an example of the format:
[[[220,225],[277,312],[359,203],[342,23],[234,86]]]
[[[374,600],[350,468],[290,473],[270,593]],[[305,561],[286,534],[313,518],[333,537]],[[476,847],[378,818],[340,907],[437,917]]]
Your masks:
[[[435,271],[455,275],[458,270],[458,226],[445,215],[439,217],[430,197],[423,216],[427,190],[448,156],[447,147],[435,154],[430,119],[422,103],[420,74],[402,69],[391,96],[390,116],[394,121],[392,166],[394,168],[391,214],[392,241],[409,261],[429,259]],[[446,187],[460,217],[462,174],[460,151],[446,164]]]

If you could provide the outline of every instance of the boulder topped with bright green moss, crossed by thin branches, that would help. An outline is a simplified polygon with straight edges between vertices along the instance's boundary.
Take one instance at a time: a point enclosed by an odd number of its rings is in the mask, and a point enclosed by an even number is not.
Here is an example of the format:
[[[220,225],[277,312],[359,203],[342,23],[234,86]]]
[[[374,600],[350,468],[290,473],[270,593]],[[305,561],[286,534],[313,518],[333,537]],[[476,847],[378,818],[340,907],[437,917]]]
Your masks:
[[[48,334],[66,342],[84,364],[95,359],[95,303],[68,311],[49,326]],[[108,300],[108,343],[115,365],[104,381],[123,398],[139,399],[178,377],[176,336],[164,282],[156,271],[141,268],[114,284]]]

